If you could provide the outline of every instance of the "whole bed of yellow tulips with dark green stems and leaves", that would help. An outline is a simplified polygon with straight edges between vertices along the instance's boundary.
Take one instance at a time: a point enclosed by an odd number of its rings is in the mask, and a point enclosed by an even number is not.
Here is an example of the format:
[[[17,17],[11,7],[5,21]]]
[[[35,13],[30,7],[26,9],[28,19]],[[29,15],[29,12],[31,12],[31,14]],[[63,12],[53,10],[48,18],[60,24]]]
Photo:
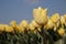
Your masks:
[[[33,10],[33,20],[22,20],[16,24],[0,24],[0,44],[54,44],[63,37],[66,30],[66,14],[47,15],[47,9]],[[48,42],[47,42],[48,41]]]

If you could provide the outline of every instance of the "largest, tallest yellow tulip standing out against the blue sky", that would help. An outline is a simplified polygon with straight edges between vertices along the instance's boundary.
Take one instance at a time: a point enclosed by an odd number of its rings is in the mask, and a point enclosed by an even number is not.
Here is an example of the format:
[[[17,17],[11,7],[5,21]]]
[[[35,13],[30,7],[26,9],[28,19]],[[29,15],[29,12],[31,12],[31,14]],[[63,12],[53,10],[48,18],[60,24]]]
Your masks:
[[[47,21],[47,9],[34,9],[33,16],[38,24],[45,24]]]

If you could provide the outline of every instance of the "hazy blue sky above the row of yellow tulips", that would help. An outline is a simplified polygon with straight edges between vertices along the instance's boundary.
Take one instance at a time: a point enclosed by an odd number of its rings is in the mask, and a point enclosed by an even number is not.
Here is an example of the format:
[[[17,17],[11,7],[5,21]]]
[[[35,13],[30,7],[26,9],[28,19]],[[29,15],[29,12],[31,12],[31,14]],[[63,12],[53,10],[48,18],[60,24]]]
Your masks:
[[[11,20],[30,22],[33,9],[37,7],[47,8],[48,15],[66,13],[66,0],[0,0],[0,23],[10,23]]]

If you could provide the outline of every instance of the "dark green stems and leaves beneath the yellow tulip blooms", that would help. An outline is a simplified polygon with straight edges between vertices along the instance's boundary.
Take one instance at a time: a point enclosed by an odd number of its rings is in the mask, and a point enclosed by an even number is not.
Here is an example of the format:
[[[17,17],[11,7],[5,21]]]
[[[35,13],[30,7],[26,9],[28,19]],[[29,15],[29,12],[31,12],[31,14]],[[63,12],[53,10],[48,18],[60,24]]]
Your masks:
[[[34,32],[28,31],[24,33],[8,33],[2,32],[0,34],[0,44],[54,44],[54,41],[57,41],[59,37],[58,34],[53,31],[44,31],[42,29],[41,32],[37,30]]]

